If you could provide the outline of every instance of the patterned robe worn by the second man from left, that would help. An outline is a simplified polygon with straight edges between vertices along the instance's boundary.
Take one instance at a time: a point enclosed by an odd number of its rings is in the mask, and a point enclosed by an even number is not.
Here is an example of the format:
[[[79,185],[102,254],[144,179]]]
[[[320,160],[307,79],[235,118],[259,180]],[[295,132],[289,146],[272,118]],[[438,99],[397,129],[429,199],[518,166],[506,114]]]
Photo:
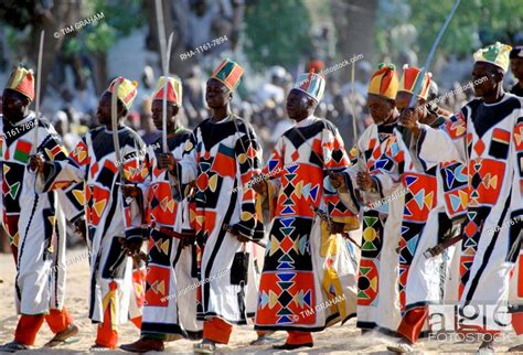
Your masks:
[[[116,161],[111,131],[105,126],[97,127],[83,137],[68,160],[54,162],[39,184],[43,191],[51,191],[72,182],[85,182],[90,250],[89,318],[94,323],[103,322],[109,309],[114,326],[129,316],[140,315],[136,292],[143,292],[137,280],[139,275],[132,276],[132,260],[124,254],[119,240],[142,238],[142,214],[136,201],[124,198],[117,164],[124,165],[129,182],[142,182],[148,174],[140,153],[145,151],[140,137],[124,125],[118,127],[118,137],[121,162]]]

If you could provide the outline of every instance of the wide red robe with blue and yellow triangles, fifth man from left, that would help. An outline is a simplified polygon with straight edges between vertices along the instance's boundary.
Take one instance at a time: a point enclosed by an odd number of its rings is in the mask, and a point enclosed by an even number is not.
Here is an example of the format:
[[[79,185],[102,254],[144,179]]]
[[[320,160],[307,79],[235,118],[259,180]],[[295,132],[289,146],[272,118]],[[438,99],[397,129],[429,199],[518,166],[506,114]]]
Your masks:
[[[338,129],[323,119],[309,117],[279,139],[264,169],[280,187],[269,192],[276,196],[275,217],[255,329],[314,332],[355,315],[355,266],[349,248],[312,209],[321,208],[348,229],[359,228],[327,176],[327,169],[349,164]]]

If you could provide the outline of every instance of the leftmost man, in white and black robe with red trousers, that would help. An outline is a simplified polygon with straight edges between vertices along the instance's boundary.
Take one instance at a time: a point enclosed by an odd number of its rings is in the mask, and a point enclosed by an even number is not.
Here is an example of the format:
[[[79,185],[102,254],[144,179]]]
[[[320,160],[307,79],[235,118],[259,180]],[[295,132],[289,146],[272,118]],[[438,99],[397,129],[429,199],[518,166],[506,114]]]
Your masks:
[[[46,346],[65,342],[78,333],[78,327],[64,306],[65,218],[58,196],[55,192],[35,194],[35,174],[28,166],[32,151],[50,161],[64,161],[67,152],[53,127],[36,121],[29,110],[34,99],[32,71],[17,67],[2,99],[2,223],[17,266],[15,305],[21,315],[14,341],[0,352],[15,352],[34,344],[44,320],[55,334]]]

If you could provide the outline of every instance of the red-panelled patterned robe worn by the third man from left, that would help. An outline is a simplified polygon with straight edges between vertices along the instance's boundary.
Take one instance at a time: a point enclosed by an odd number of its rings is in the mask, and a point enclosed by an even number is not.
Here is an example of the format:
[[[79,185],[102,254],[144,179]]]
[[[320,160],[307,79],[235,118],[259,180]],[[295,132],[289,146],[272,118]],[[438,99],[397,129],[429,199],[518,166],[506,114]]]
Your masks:
[[[168,137],[169,150],[181,160],[190,131],[179,128]],[[158,140],[161,144],[161,139]],[[143,184],[149,226],[149,260],[147,262],[146,302],[141,333],[163,335],[166,340],[180,334],[190,338],[202,336],[202,322],[196,321],[198,258],[196,245],[182,247],[181,239],[193,235],[189,224],[189,201],[180,201],[178,186],[172,186],[168,172],[158,168],[156,152],[150,161],[149,178]],[[186,186],[182,186],[184,190]],[[173,193],[174,192],[174,193]]]

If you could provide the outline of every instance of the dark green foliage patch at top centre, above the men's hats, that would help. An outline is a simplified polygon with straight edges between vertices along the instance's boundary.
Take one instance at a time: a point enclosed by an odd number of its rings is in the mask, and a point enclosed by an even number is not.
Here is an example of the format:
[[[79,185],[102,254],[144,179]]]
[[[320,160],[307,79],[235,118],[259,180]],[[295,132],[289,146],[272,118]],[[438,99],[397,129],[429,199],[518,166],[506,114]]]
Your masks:
[[[260,0],[246,9],[245,54],[255,71],[293,66],[311,50],[311,19],[302,0]]]

